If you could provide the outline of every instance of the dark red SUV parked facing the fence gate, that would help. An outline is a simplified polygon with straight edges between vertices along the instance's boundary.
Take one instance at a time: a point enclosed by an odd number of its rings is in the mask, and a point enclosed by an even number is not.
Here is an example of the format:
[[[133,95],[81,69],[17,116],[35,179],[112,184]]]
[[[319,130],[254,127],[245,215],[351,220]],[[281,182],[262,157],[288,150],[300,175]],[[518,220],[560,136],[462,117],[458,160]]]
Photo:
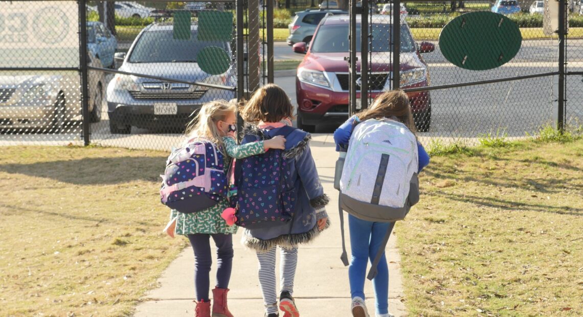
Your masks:
[[[372,97],[390,88],[392,52],[389,39],[392,24],[386,15],[373,15],[371,52],[369,61],[368,89]],[[296,100],[298,103],[297,125],[313,131],[320,122],[343,122],[348,117],[350,82],[349,65],[349,16],[328,16],[322,19],[314,33],[311,45],[303,61],[298,65]],[[357,72],[360,74],[360,17],[357,18]],[[419,47],[405,23],[401,24],[401,88],[429,86],[429,71],[420,53],[432,52],[435,46],[428,42]],[[294,52],[304,53],[305,43],[296,43]],[[356,79],[360,89],[360,77]],[[360,100],[360,93],[357,91]],[[429,131],[431,122],[431,97],[429,91],[409,93],[413,118],[418,131]],[[357,108],[359,105],[357,104]]]

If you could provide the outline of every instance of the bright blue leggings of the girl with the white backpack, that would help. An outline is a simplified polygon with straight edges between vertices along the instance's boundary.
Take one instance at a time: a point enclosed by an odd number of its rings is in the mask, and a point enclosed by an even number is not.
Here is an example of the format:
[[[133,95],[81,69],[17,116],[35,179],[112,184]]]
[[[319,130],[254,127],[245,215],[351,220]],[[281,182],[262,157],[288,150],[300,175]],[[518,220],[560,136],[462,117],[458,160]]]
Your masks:
[[[350,281],[350,294],[354,297],[364,297],[364,280],[366,279],[366,267],[368,259],[372,263],[382,240],[387,233],[390,223],[378,223],[360,220],[348,215],[348,227],[350,229],[350,250],[352,259],[348,268]],[[389,298],[389,268],[387,258],[382,253],[377,265],[377,276],[373,279],[374,297],[377,314],[388,313]]]

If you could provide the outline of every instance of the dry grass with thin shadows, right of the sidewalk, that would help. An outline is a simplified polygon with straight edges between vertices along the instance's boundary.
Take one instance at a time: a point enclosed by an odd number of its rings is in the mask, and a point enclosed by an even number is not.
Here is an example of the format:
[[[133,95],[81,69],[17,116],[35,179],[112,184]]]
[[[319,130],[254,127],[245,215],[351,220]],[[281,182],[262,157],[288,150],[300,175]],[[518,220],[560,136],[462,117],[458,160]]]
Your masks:
[[[583,140],[433,157],[396,227],[412,316],[583,315]]]

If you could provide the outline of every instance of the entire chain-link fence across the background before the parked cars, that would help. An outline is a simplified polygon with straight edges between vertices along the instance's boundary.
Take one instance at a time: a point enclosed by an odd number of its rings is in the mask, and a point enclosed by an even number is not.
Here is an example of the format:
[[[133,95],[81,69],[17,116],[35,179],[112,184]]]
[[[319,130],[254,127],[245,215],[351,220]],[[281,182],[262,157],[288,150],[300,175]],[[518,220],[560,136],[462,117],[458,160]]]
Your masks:
[[[298,126],[313,131],[322,122],[342,122],[395,87],[408,91],[422,137],[522,137],[556,126],[561,115],[567,127],[579,126],[581,7],[564,6],[569,29],[561,82],[561,42],[543,33],[538,2],[346,1],[354,5],[347,8],[351,14],[325,16],[319,35],[305,36],[311,41],[303,47],[310,50],[306,61],[315,55],[333,63],[310,69],[304,62],[297,83],[285,87],[296,97]],[[332,3],[342,6],[324,5]],[[261,0],[0,2],[0,144],[167,150],[203,103],[244,98],[261,84],[277,82],[274,55],[283,53],[273,46],[274,31],[287,20],[274,19],[273,11],[285,6]],[[444,27],[465,13],[491,11],[518,26],[518,41],[511,33],[498,38],[504,50],[519,43],[515,55],[498,55],[503,65],[491,69],[463,65],[485,58],[480,55],[469,54],[461,65],[448,61],[447,48],[469,50],[471,44],[442,43]],[[344,60],[352,45],[350,16],[357,40],[353,72]],[[486,18],[476,15],[466,23],[487,23],[480,19]],[[291,17],[286,32],[296,30],[297,21]],[[394,24],[400,25],[398,45],[391,40]],[[486,31],[475,37],[486,38]],[[393,64],[399,65],[398,76]]]

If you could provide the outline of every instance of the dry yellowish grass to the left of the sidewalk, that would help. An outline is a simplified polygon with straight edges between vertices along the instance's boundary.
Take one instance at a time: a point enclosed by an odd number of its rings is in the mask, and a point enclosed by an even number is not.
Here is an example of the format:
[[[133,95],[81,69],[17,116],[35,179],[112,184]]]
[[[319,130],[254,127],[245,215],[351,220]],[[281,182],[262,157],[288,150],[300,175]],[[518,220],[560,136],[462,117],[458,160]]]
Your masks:
[[[185,245],[161,234],[166,156],[2,147],[0,315],[131,314]]]

